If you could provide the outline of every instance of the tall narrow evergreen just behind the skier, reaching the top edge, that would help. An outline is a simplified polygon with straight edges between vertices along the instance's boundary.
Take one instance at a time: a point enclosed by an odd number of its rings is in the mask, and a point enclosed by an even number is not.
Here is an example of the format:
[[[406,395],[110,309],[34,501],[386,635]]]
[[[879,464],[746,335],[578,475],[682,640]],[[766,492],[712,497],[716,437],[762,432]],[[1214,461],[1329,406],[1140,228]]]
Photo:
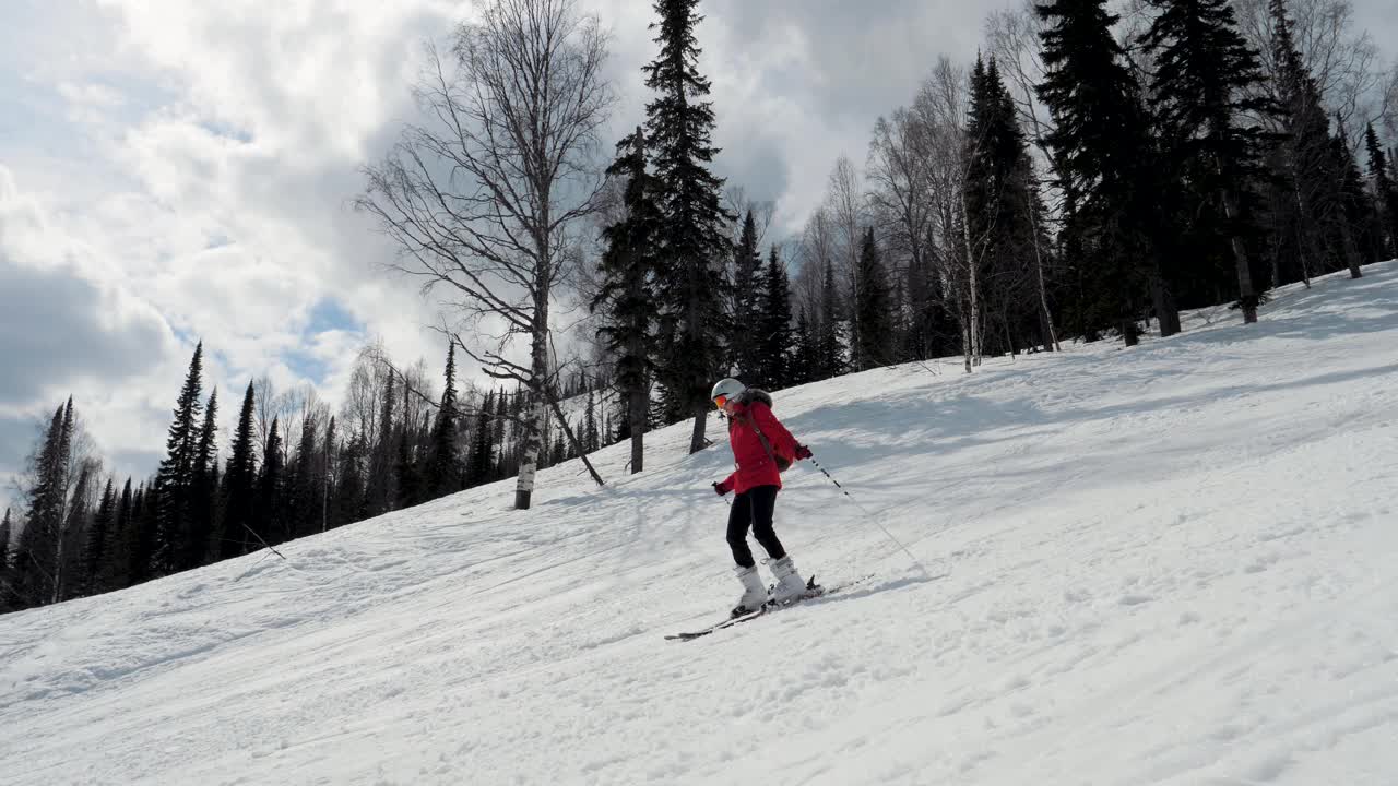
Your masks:
[[[695,27],[698,0],[656,0],[660,56],[644,67],[646,87],[658,97],[646,106],[654,150],[658,203],[664,215],[658,236],[660,299],[674,322],[663,347],[661,373],[677,408],[693,417],[689,452],[705,446],[709,387],[720,368],[724,331],[721,262],[731,245],[724,227],[733,220],[720,206],[723,179],[709,169],[713,147],[713,105],[709,80],[698,69]]]

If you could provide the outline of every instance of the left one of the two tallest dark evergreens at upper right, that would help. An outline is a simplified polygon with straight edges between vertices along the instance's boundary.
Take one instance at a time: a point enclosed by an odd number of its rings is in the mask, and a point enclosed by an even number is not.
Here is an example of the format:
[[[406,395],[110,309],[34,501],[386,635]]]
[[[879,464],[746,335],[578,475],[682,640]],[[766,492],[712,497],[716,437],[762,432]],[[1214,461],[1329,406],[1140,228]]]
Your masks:
[[[1083,312],[1092,324],[1117,324],[1134,345],[1144,292],[1159,277],[1151,242],[1158,189],[1139,85],[1111,35],[1118,17],[1106,0],[1048,0],[1036,10],[1044,21],[1039,98],[1057,120],[1047,141],[1072,207],[1065,232],[1085,257]],[[1169,310],[1163,296],[1156,301]]]

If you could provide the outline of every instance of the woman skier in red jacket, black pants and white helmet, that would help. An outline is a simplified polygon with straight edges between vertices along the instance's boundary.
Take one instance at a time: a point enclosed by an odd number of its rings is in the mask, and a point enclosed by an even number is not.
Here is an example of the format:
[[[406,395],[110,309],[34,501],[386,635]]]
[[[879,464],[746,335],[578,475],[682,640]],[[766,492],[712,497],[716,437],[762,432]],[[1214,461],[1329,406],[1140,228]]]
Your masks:
[[[809,459],[811,452],[772,414],[772,396],[765,390],[747,387],[737,379],[720,379],[710,397],[728,415],[728,443],[738,467],[727,480],[713,484],[713,490],[719,496],[737,492],[728,512],[728,547],[742,582],[742,597],[733,608],[733,615],[740,617],[761,610],[769,600],[791,603],[807,590],[791,555],[772,529],[772,513],[781,488],[781,470],[798,459]],[[748,527],[772,558],[769,566],[777,583],[770,599],[748,548]]]

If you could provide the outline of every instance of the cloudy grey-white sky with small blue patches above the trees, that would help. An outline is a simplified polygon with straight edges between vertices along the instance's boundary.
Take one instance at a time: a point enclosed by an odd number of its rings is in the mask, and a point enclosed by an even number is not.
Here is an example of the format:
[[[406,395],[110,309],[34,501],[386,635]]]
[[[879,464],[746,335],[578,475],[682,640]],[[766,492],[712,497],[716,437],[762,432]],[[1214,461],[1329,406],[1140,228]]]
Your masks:
[[[863,161],[875,117],[910,101],[937,55],[973,57],[984,14],[1011,1],[706,1],[720,173],[777,201],[777,232],[798,229],[836,157]],[[615,124],[629,129],[649,3],[583,4],[612,29]],[[0,4],[0,485],[70,393],[110,469],[150,473],[199,340],[225,427],[229,392],[261,375],[337,403],[370,337],[440,364],[436,306],[384,273],[393,249],[348,201],[414,113],[421,42],[468,8]],[[1356,10],[1398,39],[1390,1]]]

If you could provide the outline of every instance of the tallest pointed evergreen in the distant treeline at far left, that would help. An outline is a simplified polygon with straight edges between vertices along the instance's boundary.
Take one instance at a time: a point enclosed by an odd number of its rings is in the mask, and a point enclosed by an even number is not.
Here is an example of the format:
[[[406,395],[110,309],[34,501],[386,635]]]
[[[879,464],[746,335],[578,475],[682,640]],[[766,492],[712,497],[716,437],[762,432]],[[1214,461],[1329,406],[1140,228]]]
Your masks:
[[[200,343],[194,347],[189,373],[185,375],[185,386],[175,404],[175,421],[171,424],[169,436],[165,441],[165,459],[155,474],[155,494],[161,503],[154,555],[157,575],[189,568],[186,555],[192,551],[190,543],[193,540],[193,490],[201,439],[200,389],[203,387],[203,373],[204,344]]]

